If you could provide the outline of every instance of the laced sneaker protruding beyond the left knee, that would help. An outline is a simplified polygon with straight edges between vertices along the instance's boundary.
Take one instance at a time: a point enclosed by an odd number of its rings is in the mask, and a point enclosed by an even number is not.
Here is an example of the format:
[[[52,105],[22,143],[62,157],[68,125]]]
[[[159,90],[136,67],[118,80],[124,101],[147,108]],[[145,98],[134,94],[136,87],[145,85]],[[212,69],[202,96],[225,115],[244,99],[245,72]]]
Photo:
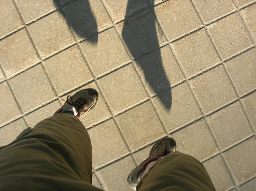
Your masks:
[[[90,111],[98,101],[98,92],[94,89],[85,89],[68,96],[64,105],[54,113],[73,112],[76,118]]]

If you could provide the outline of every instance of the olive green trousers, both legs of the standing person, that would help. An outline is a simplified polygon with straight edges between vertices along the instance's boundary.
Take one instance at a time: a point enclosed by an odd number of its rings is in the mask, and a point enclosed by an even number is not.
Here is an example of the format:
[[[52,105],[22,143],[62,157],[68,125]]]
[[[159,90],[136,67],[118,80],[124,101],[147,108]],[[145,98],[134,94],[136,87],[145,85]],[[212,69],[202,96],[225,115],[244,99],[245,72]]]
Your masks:
[[[86,128],[79,119],[60,113],[24,130],[0,148],[0,190],[101,191],[92,185],[91,164]],[[159,160],[137,188],[215,190],[203,165],[180,152]]]

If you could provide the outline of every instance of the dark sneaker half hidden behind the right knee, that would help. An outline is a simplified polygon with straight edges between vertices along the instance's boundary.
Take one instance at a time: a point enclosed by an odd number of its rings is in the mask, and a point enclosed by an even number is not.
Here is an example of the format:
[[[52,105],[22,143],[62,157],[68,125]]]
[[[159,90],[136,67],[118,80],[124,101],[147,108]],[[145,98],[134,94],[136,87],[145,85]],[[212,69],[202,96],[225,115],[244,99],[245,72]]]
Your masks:
[[[176,142],[172,138],[163,138],[157,141],[149,152],[149,157],[144,160],[138,167],[132,170],[127,178],[127,182],[133,190],[136,190],[141,176],[147,165],[155,160],[161,159],[167,154],[176,150]]]

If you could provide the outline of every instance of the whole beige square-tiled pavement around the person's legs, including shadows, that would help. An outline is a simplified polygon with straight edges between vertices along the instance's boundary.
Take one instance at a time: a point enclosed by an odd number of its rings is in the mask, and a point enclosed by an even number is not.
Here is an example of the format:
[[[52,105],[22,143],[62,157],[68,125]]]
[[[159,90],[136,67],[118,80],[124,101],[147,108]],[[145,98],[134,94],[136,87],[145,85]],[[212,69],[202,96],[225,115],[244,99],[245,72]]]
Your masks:
[[[1,0],[0,25],[1,145],[95,88],[97,187],[130,190],[170,136],[217,190],[256,189],[255,0]]]

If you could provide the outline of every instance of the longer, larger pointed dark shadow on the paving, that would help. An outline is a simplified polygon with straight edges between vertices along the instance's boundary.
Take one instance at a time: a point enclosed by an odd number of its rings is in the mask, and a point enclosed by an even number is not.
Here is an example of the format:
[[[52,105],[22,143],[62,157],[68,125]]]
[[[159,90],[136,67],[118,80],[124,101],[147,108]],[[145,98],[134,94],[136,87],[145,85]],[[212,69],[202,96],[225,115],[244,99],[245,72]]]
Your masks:
[[[158,98],[167,110],[171,108],[170,83],[162,64],[160,49],[150,53],[159,47],[156,20],[151,10],[145,11],[129,18],[129,13],[134,7],[139,6],[138,0],[129,0],[126,8],[122,37],[126,46],[134,58],[142,55],[144,57],[136,59],[136,63],[143,70],[145,80],[153,92],[158,93]],[[169,94],[163,93],[169,90]]]

